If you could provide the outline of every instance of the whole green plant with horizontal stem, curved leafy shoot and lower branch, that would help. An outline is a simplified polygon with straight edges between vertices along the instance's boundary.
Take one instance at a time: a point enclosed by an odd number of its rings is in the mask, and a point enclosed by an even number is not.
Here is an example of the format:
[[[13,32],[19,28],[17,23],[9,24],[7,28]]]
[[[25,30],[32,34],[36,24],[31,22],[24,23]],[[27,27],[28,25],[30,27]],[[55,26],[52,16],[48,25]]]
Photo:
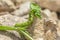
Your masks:
[[[40,8],[40,6],[38,4],[31,3],[28,21],[26,21],[24,23],[16,23],[14,27],[0,26],[0,30],[16,30],[20,34],[24,35],[25,37],[28,37],[27,40],[33,40],[33,38],[30,37],[30,35],[26,31],[26,28],[28,28],[28,26],[34,21],[35,16],[37,18],[41,19],[40,10],[41,10],[41,8]]]

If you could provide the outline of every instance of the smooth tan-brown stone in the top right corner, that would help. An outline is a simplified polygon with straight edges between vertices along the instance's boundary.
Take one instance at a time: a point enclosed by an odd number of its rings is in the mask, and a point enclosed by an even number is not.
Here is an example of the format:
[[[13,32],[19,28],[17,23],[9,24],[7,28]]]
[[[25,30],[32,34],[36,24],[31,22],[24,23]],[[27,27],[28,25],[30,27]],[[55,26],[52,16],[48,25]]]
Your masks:
[[[35,0],[42,8],[60,11],[60,0]]]

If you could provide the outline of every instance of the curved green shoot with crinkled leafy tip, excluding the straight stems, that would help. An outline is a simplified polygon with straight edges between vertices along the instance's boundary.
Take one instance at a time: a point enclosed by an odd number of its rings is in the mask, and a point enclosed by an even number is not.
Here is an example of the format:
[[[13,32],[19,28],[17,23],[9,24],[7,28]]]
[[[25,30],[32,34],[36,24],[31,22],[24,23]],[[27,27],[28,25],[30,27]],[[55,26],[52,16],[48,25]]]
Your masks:
[[[15,27],[29,26],[34,21],[33,19],[35,16],[41,18],[40,10],[41,10],[40,6],[38,6],[36,3],[31,3],[28,21],[24,23],[17,23]]]

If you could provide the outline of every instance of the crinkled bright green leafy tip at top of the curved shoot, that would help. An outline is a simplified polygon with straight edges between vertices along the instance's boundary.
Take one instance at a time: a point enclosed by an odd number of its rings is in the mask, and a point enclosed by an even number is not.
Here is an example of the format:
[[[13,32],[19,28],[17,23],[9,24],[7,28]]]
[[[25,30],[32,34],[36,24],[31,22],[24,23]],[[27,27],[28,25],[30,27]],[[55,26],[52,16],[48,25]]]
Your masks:
[[[31,3],[30,5],[31,13],[34,14],[34,16],[41,18],[41,8],[38,4],[36,3]]]

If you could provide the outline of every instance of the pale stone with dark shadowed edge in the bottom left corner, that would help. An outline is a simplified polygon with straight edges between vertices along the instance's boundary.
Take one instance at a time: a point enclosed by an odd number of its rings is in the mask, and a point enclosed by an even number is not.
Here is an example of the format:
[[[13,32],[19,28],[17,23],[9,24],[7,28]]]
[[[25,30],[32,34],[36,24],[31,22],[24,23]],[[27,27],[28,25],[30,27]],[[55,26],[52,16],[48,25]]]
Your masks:
[[[0,40],[21,40],[21,39],[18,36],[11,33],[11,32],[0,31]]]

